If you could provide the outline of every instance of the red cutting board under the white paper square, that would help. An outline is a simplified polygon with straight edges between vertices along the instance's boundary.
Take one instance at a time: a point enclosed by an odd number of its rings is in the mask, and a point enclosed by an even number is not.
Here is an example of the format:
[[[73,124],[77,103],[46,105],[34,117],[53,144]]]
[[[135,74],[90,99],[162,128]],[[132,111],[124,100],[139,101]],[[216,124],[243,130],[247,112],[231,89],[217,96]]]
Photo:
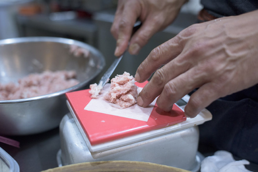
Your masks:
[[[144,83],[136,82],[139,87],[144,87],[146,84],[147,81]],[[91,145],[139,134],[186,120],[184,112],[176,105],[173,106],[170,112],[165,112],[155,104],[147,122],[84,110],[92,99],[90,96],[89,89],[66,93],[66,98]]]

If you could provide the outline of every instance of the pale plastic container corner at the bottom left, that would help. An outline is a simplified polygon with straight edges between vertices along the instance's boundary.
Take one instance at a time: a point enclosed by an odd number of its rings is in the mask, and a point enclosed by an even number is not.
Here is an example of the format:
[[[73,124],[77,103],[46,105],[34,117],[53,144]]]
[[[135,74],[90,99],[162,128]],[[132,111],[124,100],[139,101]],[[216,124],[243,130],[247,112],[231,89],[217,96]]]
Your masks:
[[[20,172],[16,160],[0,147],[0,172]]]

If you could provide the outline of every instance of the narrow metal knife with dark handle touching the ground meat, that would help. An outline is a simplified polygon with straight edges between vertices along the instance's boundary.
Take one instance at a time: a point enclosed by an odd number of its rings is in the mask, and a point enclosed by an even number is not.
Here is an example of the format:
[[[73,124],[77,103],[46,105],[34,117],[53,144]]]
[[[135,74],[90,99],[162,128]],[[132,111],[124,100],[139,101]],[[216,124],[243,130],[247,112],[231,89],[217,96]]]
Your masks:
[[[142,24],[141,24],[140,21],[137,21],[134,24],[134,27],[133,27],[133,30],[132,30],[132,35],[136,32],[136,30],[138,30],[141,27],[141,25]],[[128,43],[128,45],[129,45],[129,43]],[[112,63],[112,65],[107,69],[107,71],[104,73],[104,75],[101,77],[100,81],[98,82],[98,86],[101,86],[103,88],[103,86],[107,83],[107,79],[112,75],[112,73],[116,69],[118,63],[123,58],[125,52],[119,58],[116,58],[115,61]]]

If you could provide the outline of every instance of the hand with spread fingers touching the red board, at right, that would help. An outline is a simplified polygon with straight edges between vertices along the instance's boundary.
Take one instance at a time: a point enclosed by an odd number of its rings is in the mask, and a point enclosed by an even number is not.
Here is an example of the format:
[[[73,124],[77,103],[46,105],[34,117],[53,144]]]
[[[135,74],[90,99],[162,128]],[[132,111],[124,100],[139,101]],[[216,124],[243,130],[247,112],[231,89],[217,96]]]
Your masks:
[[[151,51],[138,67],[137,82],[146,81],[137,103],[170,111],[195,88],[185,115],[195,117],[214,100],[258,83],[258,10],[195,24]]]

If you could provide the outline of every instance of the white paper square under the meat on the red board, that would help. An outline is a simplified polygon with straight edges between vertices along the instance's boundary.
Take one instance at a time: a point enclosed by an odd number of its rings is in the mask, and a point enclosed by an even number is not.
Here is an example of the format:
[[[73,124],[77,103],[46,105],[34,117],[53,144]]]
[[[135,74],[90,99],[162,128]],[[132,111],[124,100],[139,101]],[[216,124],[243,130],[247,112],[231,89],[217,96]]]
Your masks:
[[[137,119],[141,121],[148,121],[150,113],[155,105],[157,98],[147,107],[143,108],[137,104],[134,104],[128,108],[119,109],[110,105],[110,103],[103,98],[110,89],[110,84],[106,84],[103,88],[103,93],[99,95],[97,99],[92,99],[84,110],[90,110],[103,114],[110,114],[115,116],[121,116],[125,118]],[[142,90],[139,87],[140,91]]]

